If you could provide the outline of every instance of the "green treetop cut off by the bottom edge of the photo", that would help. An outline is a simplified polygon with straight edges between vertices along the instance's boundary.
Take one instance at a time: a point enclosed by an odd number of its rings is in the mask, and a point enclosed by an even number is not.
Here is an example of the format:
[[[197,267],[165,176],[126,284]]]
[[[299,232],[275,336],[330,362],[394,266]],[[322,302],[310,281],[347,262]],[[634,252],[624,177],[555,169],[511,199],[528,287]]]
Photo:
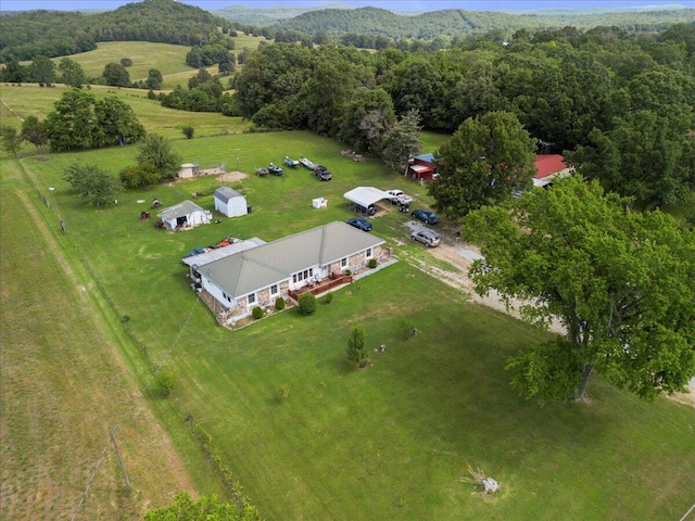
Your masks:
[[[188,493],[179,494],[169,507],[156,508],[144,514],[144,521],[255,521],[258,512],[250,505],[243,508],[219,503],[217,496],[202,496],[193,501]]]

